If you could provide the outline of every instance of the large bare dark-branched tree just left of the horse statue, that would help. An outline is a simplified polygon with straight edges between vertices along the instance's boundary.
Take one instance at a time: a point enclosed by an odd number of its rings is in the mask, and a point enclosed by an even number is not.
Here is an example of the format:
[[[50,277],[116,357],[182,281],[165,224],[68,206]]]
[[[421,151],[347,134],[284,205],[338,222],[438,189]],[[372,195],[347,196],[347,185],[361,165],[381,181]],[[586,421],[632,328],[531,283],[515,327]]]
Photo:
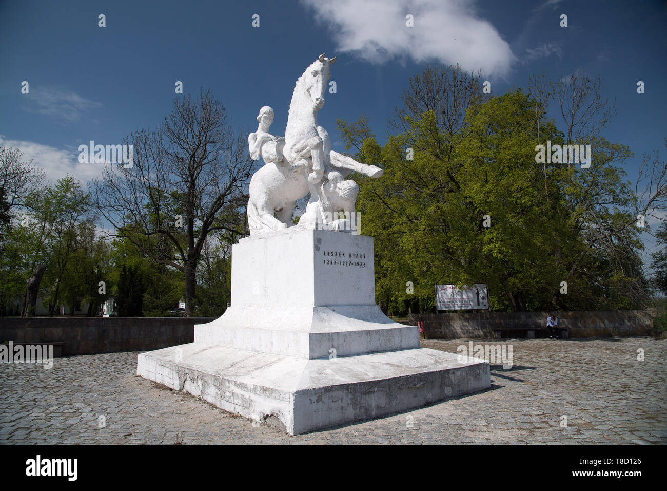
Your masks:
[[[215,230],[243,234],[237,220],[218,214],[243,201],[253,167],[245,136],[232,132],[224,106],[202,91],[198,99],[176,98],[157,130],[139,130],[126,142],[134,146],[133,166],[105,166],[93,183],[97,206],[143,254],[184,273],[185,313],[191,315],[207,236]]]

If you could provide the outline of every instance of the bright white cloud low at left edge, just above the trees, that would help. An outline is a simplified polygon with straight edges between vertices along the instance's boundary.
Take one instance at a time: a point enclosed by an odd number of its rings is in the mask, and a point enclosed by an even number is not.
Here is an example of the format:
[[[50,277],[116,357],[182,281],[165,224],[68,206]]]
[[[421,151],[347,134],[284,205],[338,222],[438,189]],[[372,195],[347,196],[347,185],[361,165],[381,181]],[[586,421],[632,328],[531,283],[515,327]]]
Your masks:
[[[101,174],[104,164],[81,164],[79,152],[76,150],[61,150],[41,143],[26,142],[21,140],[5,140],[0,135],[0,146],[20,148],[23,152],[23,160],[28,162],[33,159],[35,166],[42,168],[47,179],[55,180],[69,174],[85,184]]]

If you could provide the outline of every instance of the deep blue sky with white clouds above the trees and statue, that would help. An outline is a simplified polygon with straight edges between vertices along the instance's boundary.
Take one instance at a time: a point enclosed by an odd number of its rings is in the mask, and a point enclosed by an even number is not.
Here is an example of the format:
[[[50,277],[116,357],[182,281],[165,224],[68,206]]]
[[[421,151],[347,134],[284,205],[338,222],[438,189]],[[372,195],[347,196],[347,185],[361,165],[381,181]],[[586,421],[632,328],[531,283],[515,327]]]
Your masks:
[[[271,130],[283,134],[295,80],[326,52],[338,57],[338,93],[319,122],[338,150],[336,118],[366,114],[384,140],[427,61],[481,69],[496,95],[525,88],[532,73],[557,81],[580,69],[602,75],[616,99],[604,136],[630,146],[634,180],[644,152],[666,153],[666,27],[666,4],[648,0],[0,1],[0,144],[20,146],[50,178],[87,182],[101,164],[79,164],[77,146],[155,126],[175,81],[186,94],[211,88],[235,128],[254,131],[259,108],[272,106]]]

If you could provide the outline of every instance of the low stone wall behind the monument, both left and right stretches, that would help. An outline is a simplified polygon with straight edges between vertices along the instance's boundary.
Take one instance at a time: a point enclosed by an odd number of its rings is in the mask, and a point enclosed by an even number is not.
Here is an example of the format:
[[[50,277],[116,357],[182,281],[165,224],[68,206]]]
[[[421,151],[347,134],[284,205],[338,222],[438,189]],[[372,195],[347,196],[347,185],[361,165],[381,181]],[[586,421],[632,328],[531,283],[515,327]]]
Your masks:
[[[527,329],[546,325],[548,312],[470,312],[412,314],[410,325],[422,319],[426,339],[524,337]],[[556,312],[570,337],[648,335],[649,311]],[[0,343],[65,343],[63,356],[161,349],[191,343],[194,325],[216,317],[33,317],[0,318]],[[540,337],[540,333],[536,333]]]

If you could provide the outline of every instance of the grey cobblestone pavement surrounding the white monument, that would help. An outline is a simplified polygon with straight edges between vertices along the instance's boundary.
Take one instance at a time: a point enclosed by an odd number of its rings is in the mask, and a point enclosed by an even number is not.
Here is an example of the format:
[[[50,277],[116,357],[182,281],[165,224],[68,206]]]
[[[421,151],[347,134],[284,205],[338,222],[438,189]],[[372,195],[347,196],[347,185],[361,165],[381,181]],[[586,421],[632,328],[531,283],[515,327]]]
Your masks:
[[[422,341],[451,351],[467,340]],[[288,436],[137,377],[137,353],[0,364],[0,444],[666,444],[667,341],[498,339],[492,388]],[[644,361],[638,361],[638,350]],[[500,363],[498,361],[497,363]],[[99,416],[105,428],[99,428]],[[566,417],[566,420],[564,419]],[[562,424],[567,424],[562,427]]]

